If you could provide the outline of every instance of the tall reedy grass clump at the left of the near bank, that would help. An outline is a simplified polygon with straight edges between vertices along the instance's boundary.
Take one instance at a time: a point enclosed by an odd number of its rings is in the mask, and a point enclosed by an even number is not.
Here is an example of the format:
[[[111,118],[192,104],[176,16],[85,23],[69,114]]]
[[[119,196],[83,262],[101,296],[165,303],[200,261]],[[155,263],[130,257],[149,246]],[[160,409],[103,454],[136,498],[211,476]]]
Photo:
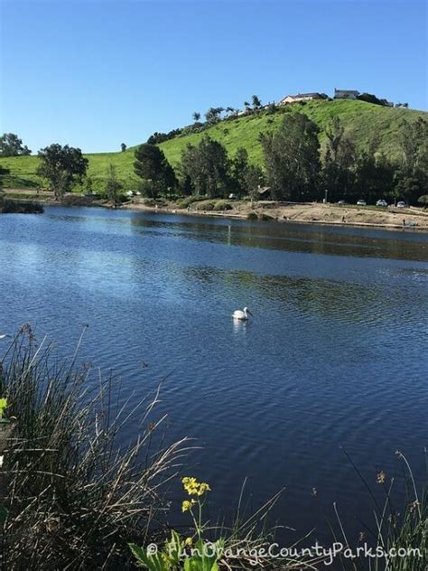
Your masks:
[[[185,440],[154,449],[164,420],[149,424],[157,395],[119,407],[112,379],[90,375],[76,356],[56,359],[28,326],[1,363],[0,394],[14,418],[4,451],[8,570],[134,568],[128,542],[166,525],[163,490]],[[130,422],[140,435],[121,449],[117,435]]]

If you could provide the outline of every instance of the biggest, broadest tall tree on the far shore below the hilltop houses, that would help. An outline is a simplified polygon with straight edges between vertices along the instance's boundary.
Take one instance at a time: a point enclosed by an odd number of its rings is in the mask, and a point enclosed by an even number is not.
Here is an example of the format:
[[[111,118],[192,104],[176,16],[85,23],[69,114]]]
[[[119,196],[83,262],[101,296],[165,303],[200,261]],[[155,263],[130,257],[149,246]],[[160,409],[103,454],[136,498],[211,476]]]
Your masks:
[[[268,183],[276,200],[312,200],[320,175],[319,128],[301,113],[284,117],[282,125],[260,136]]]

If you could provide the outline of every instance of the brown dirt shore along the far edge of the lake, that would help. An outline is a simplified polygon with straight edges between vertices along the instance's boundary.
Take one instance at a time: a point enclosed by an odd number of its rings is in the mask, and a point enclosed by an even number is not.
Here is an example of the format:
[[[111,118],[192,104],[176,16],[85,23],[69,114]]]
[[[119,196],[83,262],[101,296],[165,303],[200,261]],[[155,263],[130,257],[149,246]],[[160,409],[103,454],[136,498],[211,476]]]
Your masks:
[[[51,192],[36,189],[5,189],[5,196],[12,195],[21,200],[41,201],[45,204],[58,204],[53,200]],[[104,206],[106,201],[94,201],[79,195],[69,193],[65,196],[64,205],[73,206]],[[260,201],[251,205],[249,201],[230,201],[230,210],[204,211],[197,210],[197,203],[192,203],[187,209],[177,208],[173,201],[162,201],[155,206],[149,206],[143,200],[135,198],[124,203],[121,209],[133,211],[164,212],[172,214],[191,214],[198,216],[215,216],[236,219],[247,219],[248,215],[258,220],[277,220],[283,222],[301,222],[314,224],[330,224],[338,226],[358,226],[365,228],[406,229],[412,231],[428,231],[428,210],[420,208],[398,209],[394,207],[381,208],[373,206],[354,206],[338,204],[322,204],[317,202],[306,204],[284,204],[272,201]]]

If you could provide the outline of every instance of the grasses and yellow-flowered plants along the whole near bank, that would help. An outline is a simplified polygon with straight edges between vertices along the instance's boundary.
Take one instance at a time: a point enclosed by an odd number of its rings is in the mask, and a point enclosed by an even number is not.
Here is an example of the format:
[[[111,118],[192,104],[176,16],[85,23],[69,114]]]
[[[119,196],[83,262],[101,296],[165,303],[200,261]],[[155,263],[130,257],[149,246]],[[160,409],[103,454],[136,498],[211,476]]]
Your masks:
[[[130,395],[119,405],[112,379],[94,384],[88,367],[77,367],[79,347],[68,361],[55,359],[51,349],[24,326],[1,361],[0,519],[7,569],[324,568],[329,553],[302,551],[300,542],[282,557],[269,557],[274,529],[267,529],[266,522],[277,496],[247,519],[238,515],[230,528],[215,526],[204,516],[209,484],[184,477],[181,511],[190,522],[181,533],[175,531],[167,488],[182,471],[189,445],[186,439],[164,444],[159,434],[164,417],[154,418],[158,394],[136,404]],[[128,423],[139,434],[121,449],[117,439]],[[367,561],[350,559],[346,550],[361,547],[366,538],[373,548],[410,554],[390,558],[387,566],[384,557],[374,559],[375,571],[426,569],[426,495],[417,491],[405,456],[397,454],[408,484],[401,515],[394,505],[394,482],[384,472],[377,473],[376,484],[384,490],[383,502],[365,482],[375,519],[356,545],[347,538],[335,506],[331,534],[344,547],[337,556],[343,569],[365,568]]]

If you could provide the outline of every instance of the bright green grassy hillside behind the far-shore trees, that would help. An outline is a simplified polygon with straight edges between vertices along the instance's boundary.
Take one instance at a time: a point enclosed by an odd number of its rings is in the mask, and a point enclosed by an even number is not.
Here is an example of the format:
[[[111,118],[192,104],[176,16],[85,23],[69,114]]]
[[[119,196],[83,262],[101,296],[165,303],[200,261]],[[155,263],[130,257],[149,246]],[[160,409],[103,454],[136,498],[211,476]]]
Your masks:
[[[263,110],[257,114],[223,120],[203,133],[176,136],[160,146],[172,165],[176,166],[180,161],[182,149],[189,143],[198,143],[200,138],[207,134],[225,145],[229,155],[236,153],[239,146],[244,146],[250,160],[255,164],[262,164],[259,133],[278,126],[285,113],[295,112],[306,114],[320,126],[321,145],[325,138],[325,127],[330,123],[331,117],[339,116],[342,125],[359,148],[367,147],[371,138],[377,135],[380,137],[379,150],[393,159],[399,152],[397,140],[405,122],[414,121],[417,117],[428,118],[428,113],[424,111],[386,108],[364,101],[319,100],[310,101],[305,105],[294,104],[278,108],[271,114]],[[117,176],[125,189],[136,188],[138,179],[133,171],[134,148],[129,148],[125,153],[98,153],[86,156],[89,160],[88,175],[94,181],[94,188],[103,188],[108,164],[116,165]],[[38,161],[37,156],[0,157],[0,165],[9,168],[11,172],[5,177],[5,187],[43,186],[43,181],[35,173]]]

